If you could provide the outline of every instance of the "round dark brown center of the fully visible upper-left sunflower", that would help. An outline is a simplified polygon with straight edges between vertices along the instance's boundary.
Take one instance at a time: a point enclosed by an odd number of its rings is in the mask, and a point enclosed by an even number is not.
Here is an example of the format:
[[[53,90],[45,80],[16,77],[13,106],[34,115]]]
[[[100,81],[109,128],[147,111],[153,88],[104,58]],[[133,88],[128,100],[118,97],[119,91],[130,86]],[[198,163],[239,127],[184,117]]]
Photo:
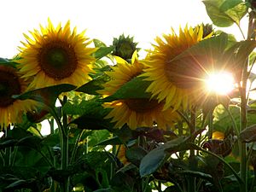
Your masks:
[[[44,44],[39,51],[38,62],[44,73],[56,80],[71,76],[78,65],[73,47],[62,41]]]

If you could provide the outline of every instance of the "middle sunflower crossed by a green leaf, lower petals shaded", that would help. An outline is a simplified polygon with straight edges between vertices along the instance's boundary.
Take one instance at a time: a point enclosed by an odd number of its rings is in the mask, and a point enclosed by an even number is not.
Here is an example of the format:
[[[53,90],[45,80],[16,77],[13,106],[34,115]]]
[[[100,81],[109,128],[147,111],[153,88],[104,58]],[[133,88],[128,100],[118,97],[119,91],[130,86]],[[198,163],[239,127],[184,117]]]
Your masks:
[[[104,84],[104,90],[100,91],[103,95],[113,95],[123,84],[143,73],[144,65],[142,61],[137,60],[137,51],[132,55],[131,64],[116,58],[117,65],[112,67],[113,71],[107,72],[111,79]],[[164,102],[158,102],[154,98],[116,100],[105,103],[104,107],[112,108],[105,118],[116,122],[115,128],[127,124],[131,129],[136,129],[157,123],[159,128],[166,129],[166,126],[172,126],[178,117],[177,113],[172,113],[172,109],[162,111]]]

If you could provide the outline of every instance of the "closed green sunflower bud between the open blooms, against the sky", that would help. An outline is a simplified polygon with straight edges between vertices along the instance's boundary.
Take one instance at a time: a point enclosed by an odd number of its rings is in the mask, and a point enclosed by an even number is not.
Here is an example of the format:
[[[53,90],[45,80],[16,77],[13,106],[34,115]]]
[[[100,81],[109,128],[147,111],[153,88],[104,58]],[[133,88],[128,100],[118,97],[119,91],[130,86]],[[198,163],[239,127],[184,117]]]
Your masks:
[[[129,35],[125,38],[125,35],[122,34],[119,38],[113,38],[113,55],[123,58],[125,61],[131,60],[131,56],[134,51],[138,51],[136,48],[137,43],[133,42],[133,37]]]

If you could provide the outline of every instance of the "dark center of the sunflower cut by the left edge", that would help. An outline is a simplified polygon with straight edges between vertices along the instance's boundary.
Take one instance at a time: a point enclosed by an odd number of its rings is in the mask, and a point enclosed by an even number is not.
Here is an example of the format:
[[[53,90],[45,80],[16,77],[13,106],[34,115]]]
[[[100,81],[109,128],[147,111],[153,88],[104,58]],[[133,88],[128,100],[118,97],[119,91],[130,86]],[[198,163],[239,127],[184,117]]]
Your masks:
[[[6,108],[15,102],[13,95],[21,92],[19,77],[15,73],[0,71],[0,108]]]

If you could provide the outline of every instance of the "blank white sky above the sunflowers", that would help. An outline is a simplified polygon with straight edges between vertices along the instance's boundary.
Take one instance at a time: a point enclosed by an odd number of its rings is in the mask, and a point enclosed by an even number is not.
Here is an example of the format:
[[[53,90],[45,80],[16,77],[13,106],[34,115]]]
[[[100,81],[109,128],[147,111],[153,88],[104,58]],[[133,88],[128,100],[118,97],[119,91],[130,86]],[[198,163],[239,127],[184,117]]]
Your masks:
[[[171,27],[211,23],[201,0],[8,0],[1,2],[0,57],[16,55],[25,40],[23,33],[46,26],[48,18],[55,26],[70,20],[78,32],[86,29],[89,38],[108,45],[124,33],[142,49]]]

